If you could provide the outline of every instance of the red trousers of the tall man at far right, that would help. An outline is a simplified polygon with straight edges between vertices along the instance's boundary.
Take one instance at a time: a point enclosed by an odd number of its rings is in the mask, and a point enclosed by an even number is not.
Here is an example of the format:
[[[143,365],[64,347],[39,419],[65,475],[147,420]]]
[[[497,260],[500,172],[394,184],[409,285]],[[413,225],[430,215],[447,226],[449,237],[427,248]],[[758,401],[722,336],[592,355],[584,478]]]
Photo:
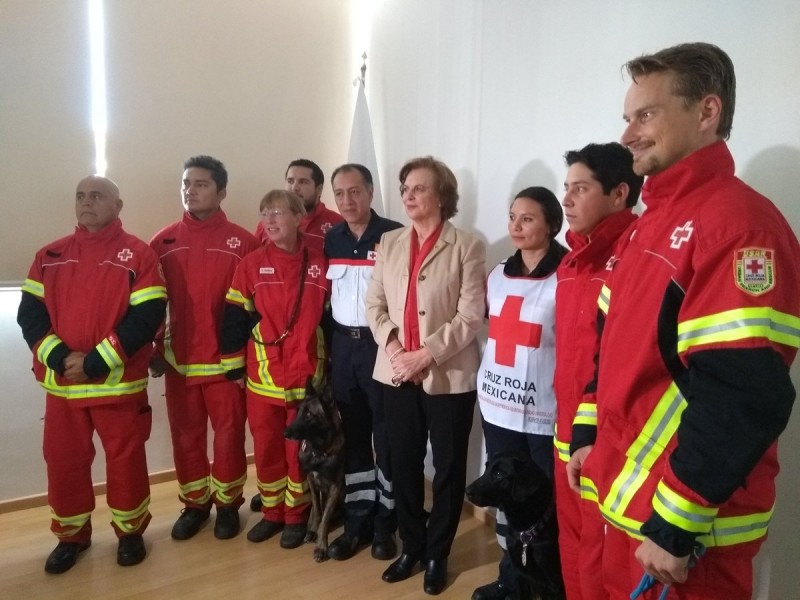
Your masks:
[[[750,600],[753,558],[761,540],[735,546],[709,548],[689,569],[686,583],[670,586],[668,600]],[[628,600],[644,572],[634,552],[641,542],[608,526],[603,546],[603,585],[611,600]],[[656,600],[663,586],[656,585],[641,600]]]

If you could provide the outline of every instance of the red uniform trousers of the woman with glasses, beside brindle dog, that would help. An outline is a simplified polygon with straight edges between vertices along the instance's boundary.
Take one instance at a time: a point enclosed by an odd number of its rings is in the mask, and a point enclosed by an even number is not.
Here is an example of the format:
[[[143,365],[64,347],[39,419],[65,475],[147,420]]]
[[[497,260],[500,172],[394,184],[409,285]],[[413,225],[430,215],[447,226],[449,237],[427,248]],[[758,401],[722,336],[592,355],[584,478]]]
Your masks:
[[[283,431],[297,416],[297,406],[273,404],[247,390],[247,417],[253,434],[253,453],[264,519],[287,525],[308,521],[311,497],[300,469],[300,442]]]

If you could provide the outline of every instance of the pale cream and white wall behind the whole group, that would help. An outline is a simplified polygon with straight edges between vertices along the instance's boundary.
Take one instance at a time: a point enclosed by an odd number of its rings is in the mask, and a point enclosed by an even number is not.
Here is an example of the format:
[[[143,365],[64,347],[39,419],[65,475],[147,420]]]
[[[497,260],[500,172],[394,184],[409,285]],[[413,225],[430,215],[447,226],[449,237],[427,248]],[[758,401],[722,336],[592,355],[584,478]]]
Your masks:
[[[683,41],[717,43],[733,58],[738,173],[800,230],[800,5],[793,0],[106,4],[109,60],[117,65],[110,76],[109,174],[128,200],[125,222],[144,237],[180,214],[180,163],[190,154],[217,154],[227,163],[227,209],[243,223],[253,218],[259,194],[280,184],[291,158],[319,159],[328,173],[343,162],[355,98],[350,82],[360,64],[353,55],[366,49],[388,215],[404,219],[397,193],[403,162],[436,155],[459,178],[456,224],[477,230],[497,262],[511,251],[505,218],[513,194],[532,184],[560,190],[566,150],[619,138],[627,87],[621,65]],[[0,6],[2,280],[21,279],[35,249],[69,231],[72,190],[92,161],[76,33],[84,27],[84,3]],[[358,30],[352,22],[361,23]],[[0,329],[0,358],[25,356],[15,335],[11,319]],[[792,374],[800,386],[800,367]],[[24,368],[0,376],[15,390],[0,399],[3,415],[12,416],[0,422],[0,453],[4,465],[13,462],[0,484],[12,488],[0,487],[0,498],[33,493],[14,487],[29,474],[42,491],[41,395]],[[796,594],[797,412],[782,438],[771,574],[765,571],[760,586],[771,585],[776,599]],[[477,423],[472,442],[475,474],[482,463]],[[170,458],[151,452],[151,466],[154,460]]]

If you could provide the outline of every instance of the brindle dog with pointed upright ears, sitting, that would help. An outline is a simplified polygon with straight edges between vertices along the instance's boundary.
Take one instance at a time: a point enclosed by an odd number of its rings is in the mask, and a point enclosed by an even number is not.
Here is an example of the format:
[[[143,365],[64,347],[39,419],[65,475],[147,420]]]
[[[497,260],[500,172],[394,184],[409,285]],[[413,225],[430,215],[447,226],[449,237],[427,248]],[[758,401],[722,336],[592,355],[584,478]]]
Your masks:
[[[300,466],[308,478],[311,493],[311,516],[305,541],[317,542],[314,560],[322,562],[328,559],[331,521],[344,499],[344,433],[330,385],[318,391],[309,378],[305,400],[283,435],[302,442]]]

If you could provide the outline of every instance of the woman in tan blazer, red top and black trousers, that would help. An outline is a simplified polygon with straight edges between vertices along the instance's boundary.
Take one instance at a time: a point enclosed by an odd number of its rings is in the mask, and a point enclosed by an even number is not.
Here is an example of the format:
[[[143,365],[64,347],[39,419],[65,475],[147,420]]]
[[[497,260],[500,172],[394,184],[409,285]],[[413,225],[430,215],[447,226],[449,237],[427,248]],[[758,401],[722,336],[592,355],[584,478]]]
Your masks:
[[[367,318],[384,387],[386,424],[403,552],[383,573],[393,583],[425,569],[423,589],[447,584],[466,484],[466,458],[480,363],[486,250],[448,219],[456,214],[453,172],[432,157],[400,170],[411,226],[385,233],[367,291]],[[423,508],[424,460],[433,452],[433,506]]]

